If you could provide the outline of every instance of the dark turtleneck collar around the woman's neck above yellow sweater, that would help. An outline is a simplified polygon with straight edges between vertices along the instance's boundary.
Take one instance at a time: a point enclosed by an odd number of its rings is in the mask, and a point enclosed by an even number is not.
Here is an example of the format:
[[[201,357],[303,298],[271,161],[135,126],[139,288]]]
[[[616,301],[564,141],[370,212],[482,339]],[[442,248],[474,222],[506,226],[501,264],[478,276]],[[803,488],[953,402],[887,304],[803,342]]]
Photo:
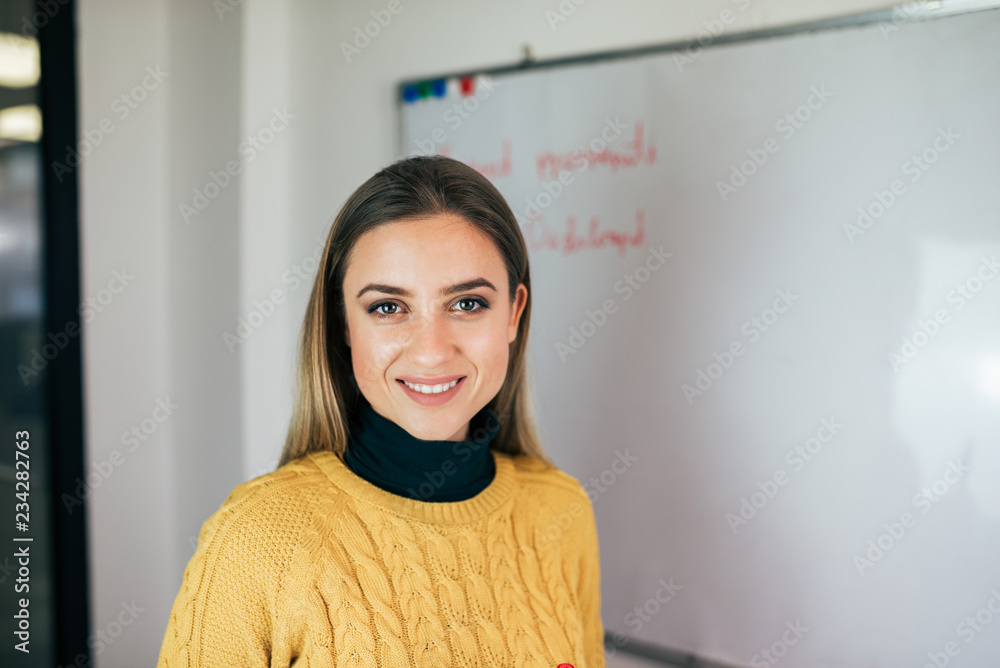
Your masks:
[[[428,502],[471,499],[493,481],[490,441],[500,429],[484,407],[469,422],[469,440],[425,441],[375,412],[361,395],[351,416],[344,463],[387,492]]]

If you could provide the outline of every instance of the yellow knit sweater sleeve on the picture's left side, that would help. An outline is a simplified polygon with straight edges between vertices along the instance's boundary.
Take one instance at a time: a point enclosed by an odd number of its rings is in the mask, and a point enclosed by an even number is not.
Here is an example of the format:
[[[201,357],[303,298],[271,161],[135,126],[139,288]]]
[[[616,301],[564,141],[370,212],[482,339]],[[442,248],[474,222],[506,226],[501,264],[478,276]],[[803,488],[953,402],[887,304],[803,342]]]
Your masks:
[[[269,668],[283,550],[244,483],[202,525],[157,668]]]

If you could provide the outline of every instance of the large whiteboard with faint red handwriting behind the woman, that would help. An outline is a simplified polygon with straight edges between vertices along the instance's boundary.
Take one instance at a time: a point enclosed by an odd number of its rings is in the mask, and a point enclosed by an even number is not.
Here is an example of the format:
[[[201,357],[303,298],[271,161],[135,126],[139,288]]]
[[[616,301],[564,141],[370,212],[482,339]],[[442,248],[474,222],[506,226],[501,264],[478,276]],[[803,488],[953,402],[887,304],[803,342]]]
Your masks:
[[[621,649],[1000,665],[1000,12],[473,83],[402,153],[521,223]]]

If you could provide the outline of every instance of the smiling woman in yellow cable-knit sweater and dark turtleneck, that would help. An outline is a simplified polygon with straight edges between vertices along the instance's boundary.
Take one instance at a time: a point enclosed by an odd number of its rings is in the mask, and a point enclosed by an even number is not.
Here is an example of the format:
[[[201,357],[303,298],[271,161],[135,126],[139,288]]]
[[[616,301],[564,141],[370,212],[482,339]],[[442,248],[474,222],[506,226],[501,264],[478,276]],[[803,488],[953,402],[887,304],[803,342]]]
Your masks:
[[[593,510],[544,455],[517,222],[441,156],[327,239],[279,468],[202,526],[158,666],[604,666]]]

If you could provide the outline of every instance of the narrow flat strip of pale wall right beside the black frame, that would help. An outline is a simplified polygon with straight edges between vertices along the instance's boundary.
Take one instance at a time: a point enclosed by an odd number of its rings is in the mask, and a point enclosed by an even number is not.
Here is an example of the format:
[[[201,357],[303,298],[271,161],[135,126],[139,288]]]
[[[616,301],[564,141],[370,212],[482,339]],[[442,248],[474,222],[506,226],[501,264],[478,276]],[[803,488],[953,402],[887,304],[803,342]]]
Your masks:
[[[98,1],[79,9],[80,132],[94,132],[102,121],[114,125],[79,170],[81,299],[97,296],[115,270],[135,277],[84,324],[81,335],[86,469],[109,462],[116,449],[124,453],[124,461],[111,460],[121,463],[88,498],[93,630],[105,629],[123,603],[134,600],[143,608],[128,632],[96,660],[102,666],[125,665],[129,656],[148,656],[143,646],[155,643],[152,627],[162,620],[163,602],[175,589],[166,574],[175,571],[178,558],[177,493],[168,449],[174,422],[159,425],[134,452],[119,440],[152,414],[157,399],[176,399],[169,331],[174,270],[166,247],[174,72],[165,2]],[[141,85],[147,66],[169,74],[134,109],[123,107],[116,98]],[[124,118],[123,109],[129,112]]]

